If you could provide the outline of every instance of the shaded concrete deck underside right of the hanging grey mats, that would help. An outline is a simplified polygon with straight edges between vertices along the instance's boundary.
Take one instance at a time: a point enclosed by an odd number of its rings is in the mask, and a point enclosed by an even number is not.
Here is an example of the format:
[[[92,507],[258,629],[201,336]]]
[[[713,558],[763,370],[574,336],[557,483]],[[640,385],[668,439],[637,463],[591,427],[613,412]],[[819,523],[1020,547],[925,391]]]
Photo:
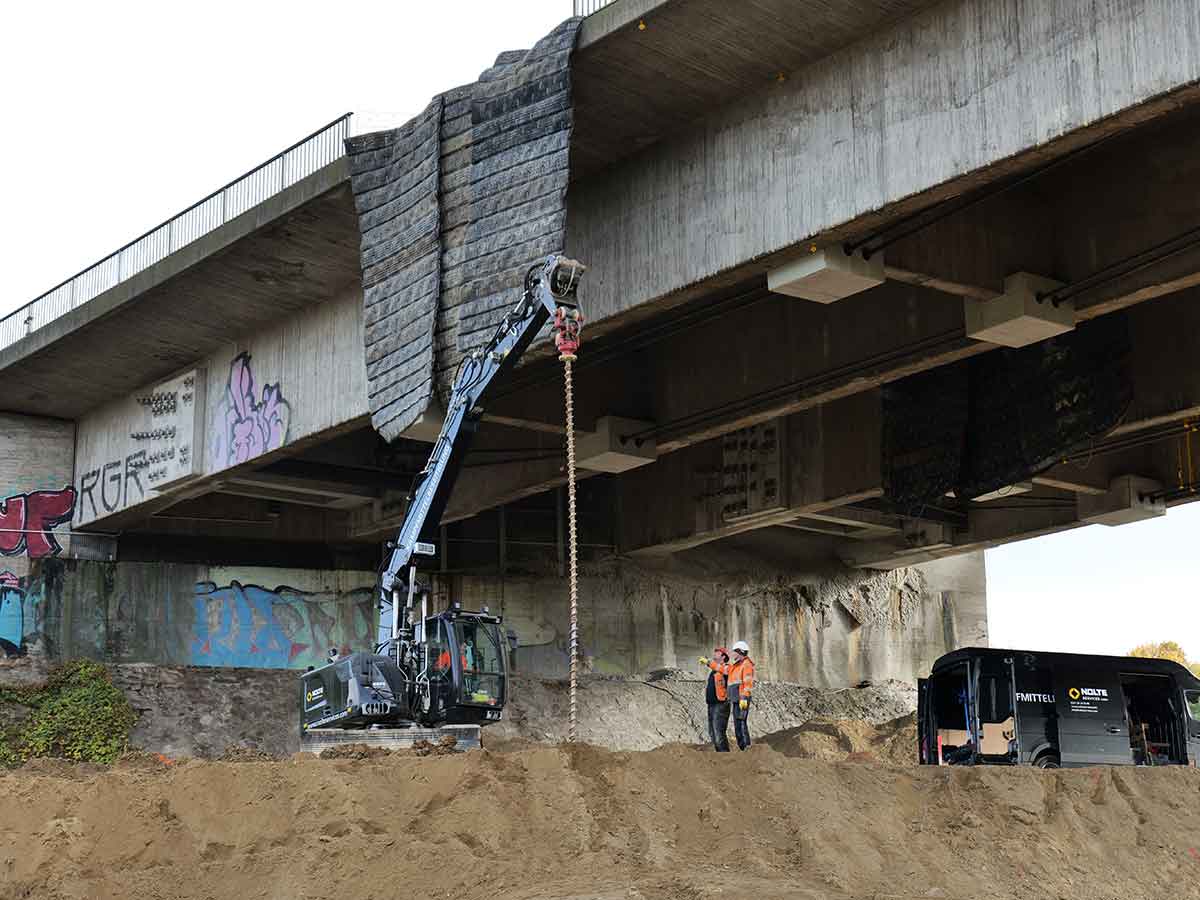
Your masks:
[[[690,131],[748,94],[800,78],[812,62],[934,2],[613,2],[587,17],[580,31],[574,178]]]

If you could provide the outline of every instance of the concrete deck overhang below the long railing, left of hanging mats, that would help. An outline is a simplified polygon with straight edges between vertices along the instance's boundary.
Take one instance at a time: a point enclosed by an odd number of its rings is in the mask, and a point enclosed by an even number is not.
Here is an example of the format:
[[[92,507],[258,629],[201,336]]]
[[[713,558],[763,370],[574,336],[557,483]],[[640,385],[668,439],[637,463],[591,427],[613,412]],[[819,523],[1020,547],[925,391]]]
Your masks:
[[[358,282],[346,161],[0,350],[4,408],[77,418]]]

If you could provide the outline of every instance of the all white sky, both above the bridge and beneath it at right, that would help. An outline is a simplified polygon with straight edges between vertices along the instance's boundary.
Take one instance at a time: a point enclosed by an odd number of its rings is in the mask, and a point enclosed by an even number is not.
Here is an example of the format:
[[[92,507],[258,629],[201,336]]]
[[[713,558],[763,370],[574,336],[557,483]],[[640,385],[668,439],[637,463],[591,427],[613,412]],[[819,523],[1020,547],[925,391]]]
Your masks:
[[[346,112],[419,113],[571,0],[13,4],[0,31],[0,313]],[[992,643],[1200,659],[1200,508],[988,554]]]

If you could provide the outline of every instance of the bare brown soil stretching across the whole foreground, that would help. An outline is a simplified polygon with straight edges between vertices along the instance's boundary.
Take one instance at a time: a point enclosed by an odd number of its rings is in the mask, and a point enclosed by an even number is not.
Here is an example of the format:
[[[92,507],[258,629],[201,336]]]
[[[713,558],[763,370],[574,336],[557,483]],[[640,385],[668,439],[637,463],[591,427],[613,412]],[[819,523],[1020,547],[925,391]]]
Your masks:
[[[800,757],[856,738],[806,727],[728,755],[38,763],[0,776],[0,899],[1200,896],[1195,769],[827,762]]]

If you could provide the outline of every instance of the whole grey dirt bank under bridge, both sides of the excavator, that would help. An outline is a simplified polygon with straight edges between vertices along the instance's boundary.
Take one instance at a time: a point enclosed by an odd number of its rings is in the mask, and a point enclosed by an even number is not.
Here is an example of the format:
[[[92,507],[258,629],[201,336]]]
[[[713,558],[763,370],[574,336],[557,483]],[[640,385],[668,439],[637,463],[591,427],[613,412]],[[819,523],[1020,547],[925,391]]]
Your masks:
[[[6,670],[0,667],[0,685]],[[296,673],[270,668],[216,668],[128,664],[112,667],[137,724],[132,745],[152,754],[241,758],[289,756],[300,749]],[[580,685],[581,734],[612,750],[650,750],[707,739],[704,683],[690,672],[664,670],[646,678],[587,676]],[[486,740],[505,745],[554,743],[566,737],[566,682],[515,674],[505,721]],[[911,712],[916,689],[901,682],[823,690],[767,682],[760,685],[756,734],[791,728],[814,718],[882,722]],[[247,709],[258,710],[246,715]],[[0,703],[0,725],[5,706]]]

